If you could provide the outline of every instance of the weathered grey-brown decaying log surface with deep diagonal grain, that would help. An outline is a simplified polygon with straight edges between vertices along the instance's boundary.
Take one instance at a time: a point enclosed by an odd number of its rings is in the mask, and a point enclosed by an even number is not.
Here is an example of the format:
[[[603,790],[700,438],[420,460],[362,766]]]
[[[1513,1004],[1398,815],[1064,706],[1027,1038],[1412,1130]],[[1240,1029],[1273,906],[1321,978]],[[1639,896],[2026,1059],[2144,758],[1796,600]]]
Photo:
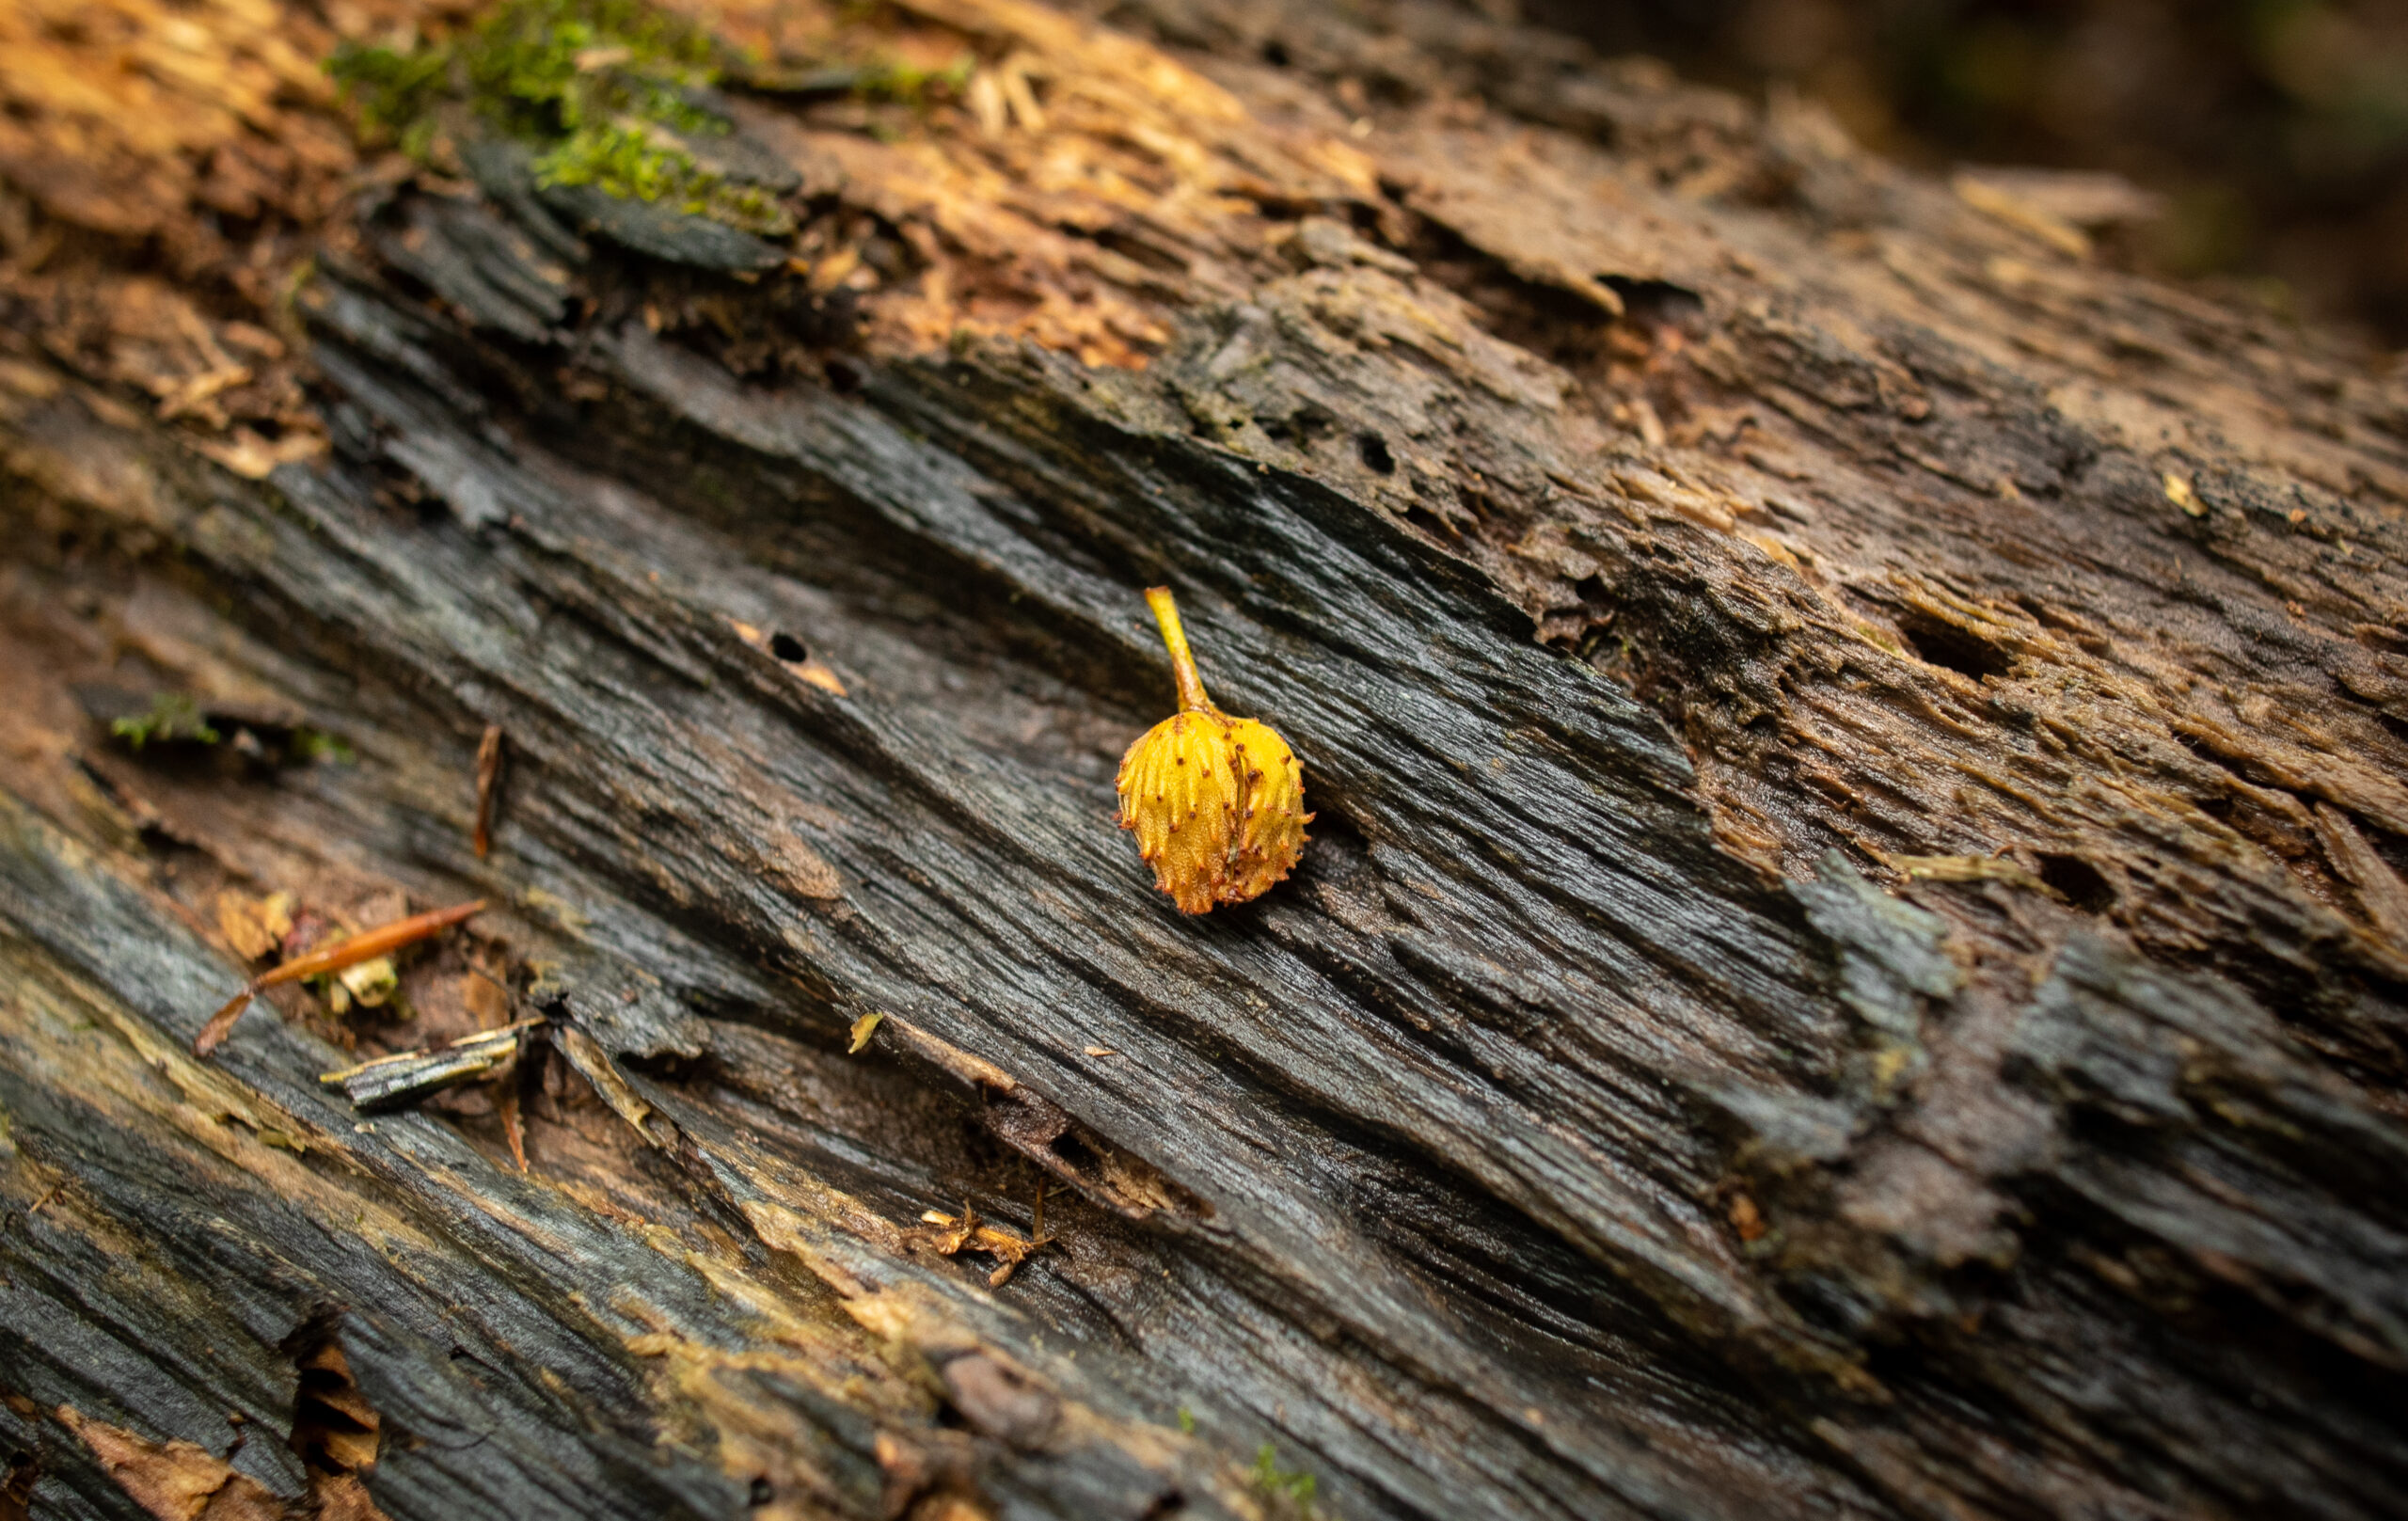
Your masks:
[[[157,226],[0,142],[0,1511],[2401,1514],[2398,380],[1471,12],[1108,19],[828,19],[1043,120],[732,99],[746,277],[508,147],[243,221],[289,67]],[[1320,811],[1206,919],[1149,582]],[[197,1064],[267,890],[496,910]],[[313,1081],[470,967],[525,1174]]]

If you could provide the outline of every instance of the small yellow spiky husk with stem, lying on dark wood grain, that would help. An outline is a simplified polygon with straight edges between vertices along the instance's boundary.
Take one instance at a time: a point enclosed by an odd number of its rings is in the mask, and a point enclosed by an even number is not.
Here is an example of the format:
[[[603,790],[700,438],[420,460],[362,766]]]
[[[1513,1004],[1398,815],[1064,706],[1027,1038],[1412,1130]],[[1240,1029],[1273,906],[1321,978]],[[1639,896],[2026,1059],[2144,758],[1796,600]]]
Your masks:
[[[1250,717],[1230,717],[1204,696],[1170,587],[1146,587],[1163,626],[1180,710],[1146,729],[1120,758],[1120,828],[1153,886],[1187,915],[1216,902],[1262,898],[1305,852],[1305,777],[1288,741]]]

